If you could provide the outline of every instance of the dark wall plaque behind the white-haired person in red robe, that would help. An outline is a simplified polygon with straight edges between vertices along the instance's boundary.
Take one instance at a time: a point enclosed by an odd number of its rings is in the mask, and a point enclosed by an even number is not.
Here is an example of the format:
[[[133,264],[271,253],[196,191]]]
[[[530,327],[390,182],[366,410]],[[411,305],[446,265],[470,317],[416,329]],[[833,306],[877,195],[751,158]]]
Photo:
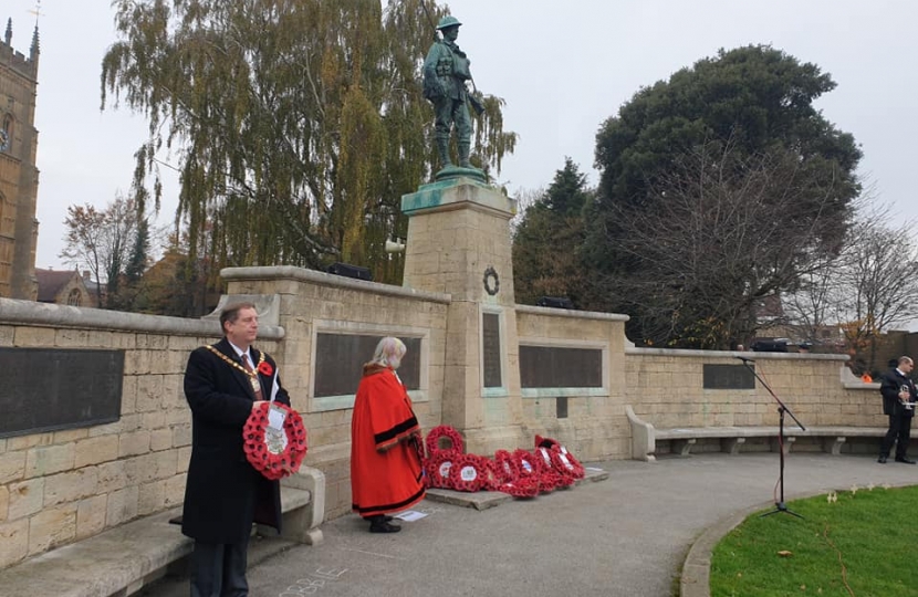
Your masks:
[[[357,394],[364,363],[384,336],[319,334],[315,346],[315,397]],[[398,377],[409,390],[420,388],[420,338],[398,338],[408,349]]]

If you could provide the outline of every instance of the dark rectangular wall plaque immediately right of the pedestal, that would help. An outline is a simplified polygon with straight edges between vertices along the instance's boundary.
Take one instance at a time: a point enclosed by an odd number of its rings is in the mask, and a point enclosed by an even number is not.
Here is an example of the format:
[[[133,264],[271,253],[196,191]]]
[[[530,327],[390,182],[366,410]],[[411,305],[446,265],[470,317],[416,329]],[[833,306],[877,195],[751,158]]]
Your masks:
[[[524,388],[602,388],[603,350],[520,346],[520,384]]]

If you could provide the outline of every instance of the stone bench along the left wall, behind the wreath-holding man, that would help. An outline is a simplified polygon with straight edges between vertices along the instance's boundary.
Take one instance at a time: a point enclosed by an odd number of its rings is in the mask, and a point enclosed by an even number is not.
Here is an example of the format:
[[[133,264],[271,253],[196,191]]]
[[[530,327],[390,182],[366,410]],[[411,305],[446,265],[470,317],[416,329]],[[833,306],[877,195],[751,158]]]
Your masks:
[[[302,467],[282,480],[281,510],[281,537],[320,543],[319,525],[325,515],[322,471]],[[191,553],[194,541],[169,522],[180,514],[180,507],[152,514],[0,570],[0,594],[123,597],[136,593]],[[264,534],[277,536],[273,528]]]

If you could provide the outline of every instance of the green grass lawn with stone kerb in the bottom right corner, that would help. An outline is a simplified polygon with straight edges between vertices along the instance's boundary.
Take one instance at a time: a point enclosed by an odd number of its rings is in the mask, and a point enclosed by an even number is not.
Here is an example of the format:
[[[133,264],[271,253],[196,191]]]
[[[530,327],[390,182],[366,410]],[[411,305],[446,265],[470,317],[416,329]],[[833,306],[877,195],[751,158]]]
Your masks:
[[[918,486],[852,488],[748,517],[711,556],[712,597],[918,597]]]

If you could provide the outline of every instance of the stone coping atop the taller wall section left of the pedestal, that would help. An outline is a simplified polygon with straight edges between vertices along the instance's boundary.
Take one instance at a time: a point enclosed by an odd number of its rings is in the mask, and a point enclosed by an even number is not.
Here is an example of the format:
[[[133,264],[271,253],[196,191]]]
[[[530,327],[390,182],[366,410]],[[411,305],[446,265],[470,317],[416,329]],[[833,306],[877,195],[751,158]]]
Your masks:
[[[404,286],[394,286],[380,282],[368,282],[354,277],[319,272],[295,268],[293,265],[277,266],[253,266],[253,268],[226,268],[220,270],[220,277],[226,281],[243,280],[293,280],[295,282],[311,282],[323,286],[336,286],[373,294],[395,296],[397,298],[409,298],[413,301],[427,301],[430,303],[449,304],[452,302],[450,294],[439,292],[418,291]]]

